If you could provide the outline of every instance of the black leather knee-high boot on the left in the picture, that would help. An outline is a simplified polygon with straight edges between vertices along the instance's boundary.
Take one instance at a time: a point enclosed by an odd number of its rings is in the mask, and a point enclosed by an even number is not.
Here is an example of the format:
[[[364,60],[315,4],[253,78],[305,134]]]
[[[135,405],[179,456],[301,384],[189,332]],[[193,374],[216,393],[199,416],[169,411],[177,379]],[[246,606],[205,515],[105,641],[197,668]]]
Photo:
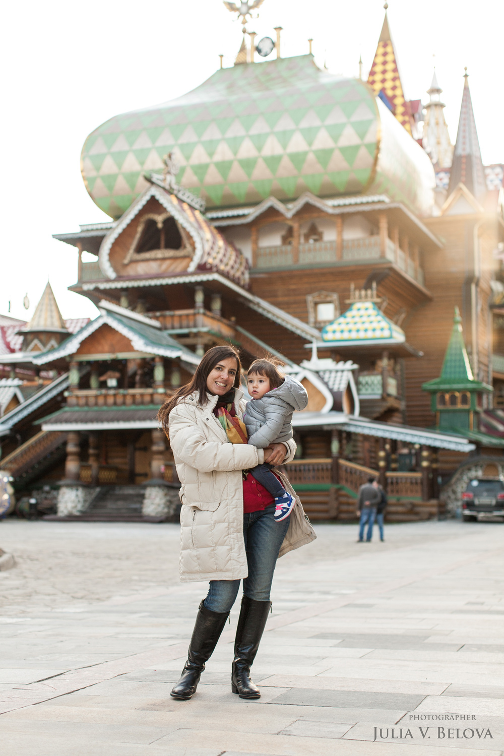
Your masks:
[[[181,679],[170,693],[172,698],[187,701],[196,692],[199,677],[205,669],[205,662],[208,662],[212,655],[228,617],[229,612],[224,614],[212,612],[203,606],[203,601],[199,604],[187,652],[187,662],[182,670]]]

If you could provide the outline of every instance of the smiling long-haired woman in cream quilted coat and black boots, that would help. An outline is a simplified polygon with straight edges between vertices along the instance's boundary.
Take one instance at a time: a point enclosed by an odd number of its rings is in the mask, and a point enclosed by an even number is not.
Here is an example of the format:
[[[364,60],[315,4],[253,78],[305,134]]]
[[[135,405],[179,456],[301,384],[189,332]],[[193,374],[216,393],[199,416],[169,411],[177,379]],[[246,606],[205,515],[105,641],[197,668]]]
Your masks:
[[[266,449],[247,444],[240,377],[237,350],[215,346],[190,383],[159,411],[181,481],[181,581],[209,581],[187,662],[172,690],[175,699],[190,699],[196,691],[242,579],[231,689],[242,699],[261,697],[249,675],[271,609],[277,557],[315,538],[299,500],[288,519],[275,522],[273,497],[243,472],[264,462],[291,460],[295,442]],[[283,483],[294,496],[285,478]]]

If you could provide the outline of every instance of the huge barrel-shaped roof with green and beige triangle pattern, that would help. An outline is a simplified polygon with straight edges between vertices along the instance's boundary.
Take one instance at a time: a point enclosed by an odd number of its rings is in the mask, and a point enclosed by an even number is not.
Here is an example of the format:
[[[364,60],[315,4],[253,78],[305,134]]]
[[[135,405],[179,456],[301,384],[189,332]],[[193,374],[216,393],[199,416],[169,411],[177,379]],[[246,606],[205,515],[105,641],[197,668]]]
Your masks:
[[[386,193],[421,214],[433,201],[419,144],[364,82],[320,70],[311,55],[224,68],[176,100],[115,116],[82,148],[86,188],[118,218],[169,151],[178,183],[208,207],[305,191]]]

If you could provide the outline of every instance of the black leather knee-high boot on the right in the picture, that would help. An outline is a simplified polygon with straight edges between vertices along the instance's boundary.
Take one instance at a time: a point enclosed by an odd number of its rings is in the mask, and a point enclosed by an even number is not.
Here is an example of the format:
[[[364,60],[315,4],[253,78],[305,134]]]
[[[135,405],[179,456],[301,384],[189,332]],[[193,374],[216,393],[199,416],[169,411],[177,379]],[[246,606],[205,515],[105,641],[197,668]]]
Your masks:
[[[250,668],[261,642],[271,601],[255,601],[243,596],[237,637],[234,641],[234,661],[231,690],[240,699],[260,699],[258,687],[250,679]]]

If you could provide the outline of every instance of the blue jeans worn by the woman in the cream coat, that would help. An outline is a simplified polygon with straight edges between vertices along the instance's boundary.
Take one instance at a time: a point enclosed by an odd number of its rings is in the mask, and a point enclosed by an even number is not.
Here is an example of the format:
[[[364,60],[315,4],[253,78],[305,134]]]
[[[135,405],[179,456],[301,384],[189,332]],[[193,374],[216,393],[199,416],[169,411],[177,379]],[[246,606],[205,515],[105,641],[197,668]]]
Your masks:
[[[243,538],[249,577],[243,578],[243,593],[255,601],[269,601],[278,552],[289,528],[289,517],[274,520],[275,505],[243,514]],[[229,612],[237,599],[240,580],[211,580],[204,601],[212,612]]]

